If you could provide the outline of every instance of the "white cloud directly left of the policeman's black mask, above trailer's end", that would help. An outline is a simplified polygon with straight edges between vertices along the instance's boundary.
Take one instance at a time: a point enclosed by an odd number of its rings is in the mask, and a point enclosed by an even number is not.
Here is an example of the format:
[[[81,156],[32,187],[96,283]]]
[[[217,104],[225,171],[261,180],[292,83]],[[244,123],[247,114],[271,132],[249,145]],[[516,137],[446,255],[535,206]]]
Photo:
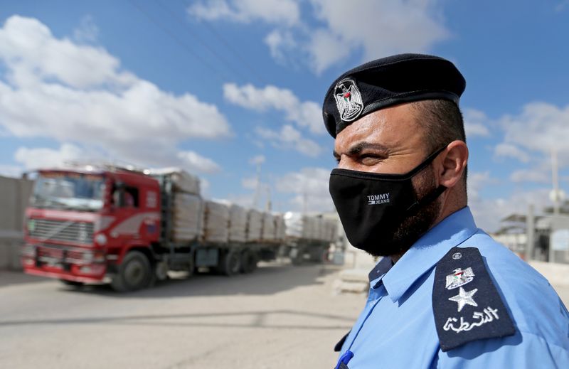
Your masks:
[[[287,173],[278,178],[277,191],[292,193],[292,210],[308,212],[334,211],[334,203],[328,191],[330,170],[324,168],[303,168],[299,172]]]

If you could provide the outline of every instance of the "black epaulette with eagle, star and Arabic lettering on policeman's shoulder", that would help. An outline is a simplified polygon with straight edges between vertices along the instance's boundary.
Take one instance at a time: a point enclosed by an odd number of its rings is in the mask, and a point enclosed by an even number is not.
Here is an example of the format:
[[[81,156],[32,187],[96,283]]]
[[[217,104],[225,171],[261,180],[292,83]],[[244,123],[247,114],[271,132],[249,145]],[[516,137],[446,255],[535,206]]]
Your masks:
[[[475,247],[453,247],[437,263],[432,310],[442,351],[516,333]]]

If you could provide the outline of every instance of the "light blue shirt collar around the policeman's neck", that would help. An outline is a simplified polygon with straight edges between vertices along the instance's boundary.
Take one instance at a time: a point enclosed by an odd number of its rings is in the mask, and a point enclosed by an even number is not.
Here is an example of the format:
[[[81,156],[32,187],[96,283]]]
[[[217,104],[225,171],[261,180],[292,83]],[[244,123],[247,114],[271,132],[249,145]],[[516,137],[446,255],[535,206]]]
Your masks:
[[[448,250],[469,239],[477,230],[469,207],[452,213],[431,228],[381,279],[391,301],[398,301]]]

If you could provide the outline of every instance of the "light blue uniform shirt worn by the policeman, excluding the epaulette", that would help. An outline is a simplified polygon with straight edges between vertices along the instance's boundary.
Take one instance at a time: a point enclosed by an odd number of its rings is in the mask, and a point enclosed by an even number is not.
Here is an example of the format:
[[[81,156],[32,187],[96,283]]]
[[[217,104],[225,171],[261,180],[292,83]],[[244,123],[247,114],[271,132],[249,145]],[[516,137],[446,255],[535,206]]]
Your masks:
[[[437,262],[452,247],[479,250],[514,335],[441,350],[433,282]],[[370,277],[365,309],[341,348],[341,354],[353,353],[350,369],[569,368],[569,314],[563,302],[541,274],[479,230],[469,208],[435,225],[393,267],[384,258],[372,273],[377,275]]]

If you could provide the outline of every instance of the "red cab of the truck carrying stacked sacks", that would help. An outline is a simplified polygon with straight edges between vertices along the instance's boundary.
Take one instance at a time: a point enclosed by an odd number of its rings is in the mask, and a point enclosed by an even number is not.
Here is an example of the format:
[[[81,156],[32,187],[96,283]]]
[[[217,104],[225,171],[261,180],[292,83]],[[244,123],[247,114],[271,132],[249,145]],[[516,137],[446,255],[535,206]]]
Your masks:
[[[131,263],[136,279],[141,268],[151,266],[151,247],[159,242],[160,200],[158,181],[138,171],[38,171],[26,209],[24,271],[70,285],[102,282],[115,277],[124,257],[137,250],[147,260]]]

